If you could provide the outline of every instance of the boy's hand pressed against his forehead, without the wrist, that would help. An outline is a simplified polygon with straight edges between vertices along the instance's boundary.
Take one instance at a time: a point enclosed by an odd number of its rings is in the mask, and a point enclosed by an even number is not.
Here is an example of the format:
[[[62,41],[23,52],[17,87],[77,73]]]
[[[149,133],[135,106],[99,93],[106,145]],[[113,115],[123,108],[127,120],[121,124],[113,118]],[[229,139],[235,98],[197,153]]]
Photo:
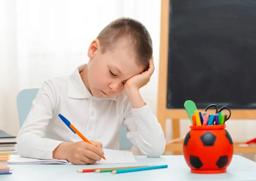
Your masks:
[[[124,88],[125,92],[128,91],[128,89],[140,89],[141,87],[145,86],[150,78],[151,75],[154,72],[154,62],[153,62],[153,57],[149,60],[149,68],[147,71],[143,72],[140,75],[135,75],[134,77],[128,79],[125,82]]]

